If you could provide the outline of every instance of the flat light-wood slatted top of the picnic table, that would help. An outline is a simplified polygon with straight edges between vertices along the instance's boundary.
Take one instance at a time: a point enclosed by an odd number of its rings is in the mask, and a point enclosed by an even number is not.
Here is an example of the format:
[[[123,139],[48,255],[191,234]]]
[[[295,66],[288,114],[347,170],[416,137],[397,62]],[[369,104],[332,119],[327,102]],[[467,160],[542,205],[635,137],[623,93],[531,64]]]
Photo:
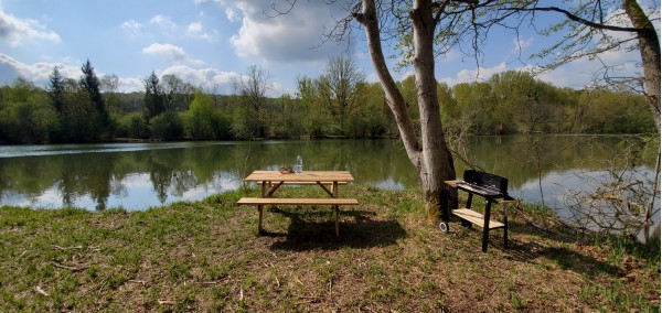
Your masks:
[[[353,182],[348,171],[303,171],[301,174],[282,174],[280,171],[254,171],[248,182]]]

